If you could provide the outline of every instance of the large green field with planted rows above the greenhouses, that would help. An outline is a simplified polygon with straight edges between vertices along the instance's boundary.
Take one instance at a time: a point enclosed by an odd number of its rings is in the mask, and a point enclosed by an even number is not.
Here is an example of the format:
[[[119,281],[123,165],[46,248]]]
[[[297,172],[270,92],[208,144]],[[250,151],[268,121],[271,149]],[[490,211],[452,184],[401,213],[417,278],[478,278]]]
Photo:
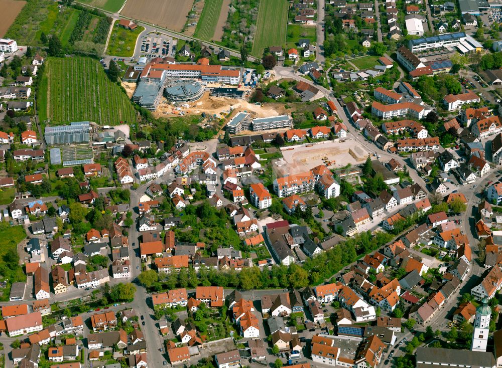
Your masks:
[[[41,121],[51,124],[95,121],[99,124],[136,122],[126,93],[90,58],[48,58],[40,81],[37,104]]]

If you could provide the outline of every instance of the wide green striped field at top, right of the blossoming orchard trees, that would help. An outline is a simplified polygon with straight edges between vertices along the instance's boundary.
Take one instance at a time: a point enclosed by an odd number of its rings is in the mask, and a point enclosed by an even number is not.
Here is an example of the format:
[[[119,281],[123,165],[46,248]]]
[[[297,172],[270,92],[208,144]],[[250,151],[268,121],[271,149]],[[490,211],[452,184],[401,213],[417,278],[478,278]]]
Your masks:
[[[258,9],[258,21],[255,41],[251,53],[261,57],[269,46],[282,46],[286,42],[288,25],[287,0],[261,0]]]

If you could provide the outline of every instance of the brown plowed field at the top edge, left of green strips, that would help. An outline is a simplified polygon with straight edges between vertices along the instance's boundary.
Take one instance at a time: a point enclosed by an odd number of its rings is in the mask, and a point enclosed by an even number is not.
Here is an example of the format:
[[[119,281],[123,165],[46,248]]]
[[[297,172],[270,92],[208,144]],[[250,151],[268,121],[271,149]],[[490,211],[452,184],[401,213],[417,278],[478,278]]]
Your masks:
[[[128,0],[120,14],[180,32],[193,0]]]

